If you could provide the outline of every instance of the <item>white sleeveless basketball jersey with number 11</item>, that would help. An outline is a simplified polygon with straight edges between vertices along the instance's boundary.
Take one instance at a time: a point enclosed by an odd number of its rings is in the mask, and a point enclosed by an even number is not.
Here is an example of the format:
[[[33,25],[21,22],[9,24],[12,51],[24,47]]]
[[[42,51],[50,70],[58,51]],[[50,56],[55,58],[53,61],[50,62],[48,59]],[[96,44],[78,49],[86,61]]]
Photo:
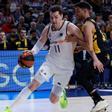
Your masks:
[[[53,31],[50,25],[48,32],[50,49],[46,61],[63,70],[73,70],[74,68],[72,43],[64,41],[67,36],[68,24],[68,21],[64,21],[62,27],[57,31]]]

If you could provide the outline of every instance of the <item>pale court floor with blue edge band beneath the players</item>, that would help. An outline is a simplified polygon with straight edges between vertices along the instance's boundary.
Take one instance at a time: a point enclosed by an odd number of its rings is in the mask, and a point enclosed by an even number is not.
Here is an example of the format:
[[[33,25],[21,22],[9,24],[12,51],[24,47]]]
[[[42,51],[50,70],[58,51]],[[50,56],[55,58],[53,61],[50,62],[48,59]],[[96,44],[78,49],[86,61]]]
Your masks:
[[[42,92],[34,92],[30,98],[23,104],[16,107],[13,112],[90,112],[91,108],[93,107],[93,102],[90,97],[84,92],[67,93],[69,105],[66,109],[62,109],[59,104],[51,104],[48,96],[49,91],[42,91]],[[104,94],[105,93],[105,94]],[[8,94],[5,92],[0,93],[0,112],[3,112],[4,108],[10,105],[14,98],[17,96],[18,93],[10,93]],[[108,111],[112,112],[112,92],[102,92],[101,93],[103,98],[107,100],[109,103]]]

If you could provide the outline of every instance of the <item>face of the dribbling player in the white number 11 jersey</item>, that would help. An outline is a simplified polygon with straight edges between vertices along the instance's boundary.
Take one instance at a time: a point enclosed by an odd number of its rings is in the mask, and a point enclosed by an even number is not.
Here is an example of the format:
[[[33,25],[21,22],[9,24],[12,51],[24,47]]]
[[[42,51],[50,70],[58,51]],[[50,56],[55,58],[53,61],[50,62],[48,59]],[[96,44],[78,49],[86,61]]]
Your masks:
[[[58,11],[56,12],[50,12],[50,21],[53,25],[53,27],[58,27],[60,25],[60,22],[62,22],[63,14],[60,14]]]

